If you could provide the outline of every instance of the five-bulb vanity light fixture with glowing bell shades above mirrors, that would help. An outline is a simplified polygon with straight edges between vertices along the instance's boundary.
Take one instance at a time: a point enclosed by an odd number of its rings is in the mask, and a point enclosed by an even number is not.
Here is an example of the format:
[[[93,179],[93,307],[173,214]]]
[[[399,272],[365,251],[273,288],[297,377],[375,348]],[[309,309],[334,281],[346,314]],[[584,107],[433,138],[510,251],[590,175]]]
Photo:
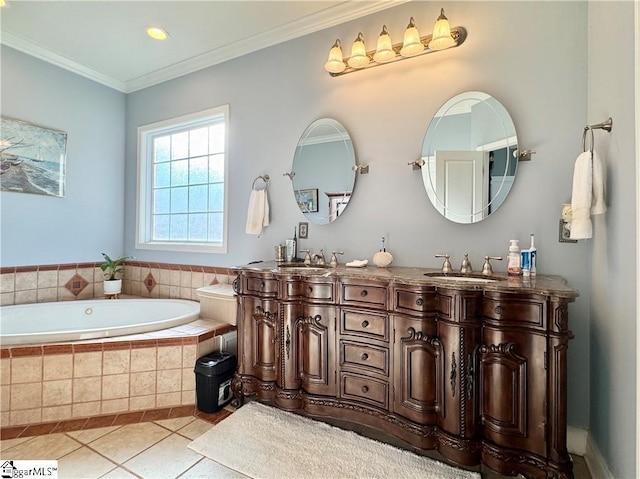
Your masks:
[[[324,68],[331,76],[344,75],[384,63],[458,47],[464,43],[466,38],[467,31],[464,27],[451,28],[449,26],[449,20],[444,14],[444,8],[442,8],[432,35],[420,37],[415,20],[411,17],[404,32],[403,42],[394,45],[391,42],[387,26],[383,25],[375,51],[366,51],[364,36],[359,33],[351,47],[351,56],[345,60],[342,56],[340,40],[336,40],[329,51],[329,58],[324,64]]]

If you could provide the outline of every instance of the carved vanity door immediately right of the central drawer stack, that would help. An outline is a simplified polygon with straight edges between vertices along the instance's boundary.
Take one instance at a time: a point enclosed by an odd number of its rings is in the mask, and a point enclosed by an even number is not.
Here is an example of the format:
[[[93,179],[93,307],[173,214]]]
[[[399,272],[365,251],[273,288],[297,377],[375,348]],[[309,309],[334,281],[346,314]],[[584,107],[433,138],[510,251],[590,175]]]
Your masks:
[[[433,320],[393,315],[393,411],[436,425],[444,414],[444,352]]]

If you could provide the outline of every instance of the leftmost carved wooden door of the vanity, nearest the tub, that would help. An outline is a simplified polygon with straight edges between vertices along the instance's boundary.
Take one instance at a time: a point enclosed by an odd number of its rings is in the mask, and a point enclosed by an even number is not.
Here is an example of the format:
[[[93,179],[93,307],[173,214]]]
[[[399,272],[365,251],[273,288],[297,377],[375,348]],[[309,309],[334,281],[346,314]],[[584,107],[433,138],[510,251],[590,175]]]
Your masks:
[[[278,302],[252,296],[241,297],[242,325],[240,329],[243,370],[241,374],[262,381],[276,381]]]

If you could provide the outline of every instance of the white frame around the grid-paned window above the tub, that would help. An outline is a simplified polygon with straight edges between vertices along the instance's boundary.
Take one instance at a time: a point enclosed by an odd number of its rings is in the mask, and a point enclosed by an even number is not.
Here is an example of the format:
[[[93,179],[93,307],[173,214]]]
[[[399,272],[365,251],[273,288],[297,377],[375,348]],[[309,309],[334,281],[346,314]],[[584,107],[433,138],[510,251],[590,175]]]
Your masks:
[[[153,207],[153,137],[186,127],[195,128],[216,118],[224,118],[224,209],[221,242],[154,241],[152,240]],[[192,253],[226,253],[229,218],[229,105],[171,118],[138,127],[138,191],[136,208],[136,248]]]

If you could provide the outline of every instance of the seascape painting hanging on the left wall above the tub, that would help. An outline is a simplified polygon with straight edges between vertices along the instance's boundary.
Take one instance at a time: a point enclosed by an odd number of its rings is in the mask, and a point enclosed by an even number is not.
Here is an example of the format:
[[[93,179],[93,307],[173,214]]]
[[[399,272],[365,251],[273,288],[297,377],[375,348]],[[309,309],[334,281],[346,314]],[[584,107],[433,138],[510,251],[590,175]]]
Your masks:
[[[0,191],[63,197],[67,134],[0,118]]]

